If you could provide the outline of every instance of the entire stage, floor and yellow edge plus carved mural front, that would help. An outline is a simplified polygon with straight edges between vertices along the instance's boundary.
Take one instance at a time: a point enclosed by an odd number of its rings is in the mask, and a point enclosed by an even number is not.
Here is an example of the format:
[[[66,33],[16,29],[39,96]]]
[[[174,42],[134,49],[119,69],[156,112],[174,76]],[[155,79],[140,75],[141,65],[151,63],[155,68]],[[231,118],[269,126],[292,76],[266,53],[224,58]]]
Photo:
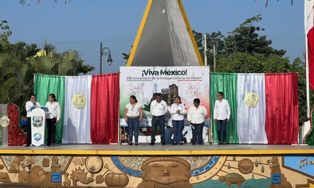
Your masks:
[[[313,187],[314,146],[0,146],[0,187]]]

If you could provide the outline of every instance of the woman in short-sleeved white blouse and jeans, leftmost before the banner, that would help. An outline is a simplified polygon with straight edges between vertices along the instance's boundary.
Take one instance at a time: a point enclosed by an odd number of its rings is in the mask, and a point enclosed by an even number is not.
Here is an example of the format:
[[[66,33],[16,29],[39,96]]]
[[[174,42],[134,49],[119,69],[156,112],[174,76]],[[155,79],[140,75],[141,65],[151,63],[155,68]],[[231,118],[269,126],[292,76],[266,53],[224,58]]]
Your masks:
[[[134,95],[130,96],[130,103],[125,106],[124,119],[129,129],[129,145],[133,144],[133,132],[135,145],[138,145],[138,126],[143,119],[143,108]]]

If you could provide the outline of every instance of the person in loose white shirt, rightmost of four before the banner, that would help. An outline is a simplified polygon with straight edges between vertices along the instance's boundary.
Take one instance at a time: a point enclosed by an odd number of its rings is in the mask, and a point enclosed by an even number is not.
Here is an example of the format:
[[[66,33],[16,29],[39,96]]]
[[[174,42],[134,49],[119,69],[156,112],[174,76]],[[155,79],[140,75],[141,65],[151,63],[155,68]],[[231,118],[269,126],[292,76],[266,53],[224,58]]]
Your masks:
[[[207,110],[204,106],[199,105],[200,100],[195,98],[193,100],[194,106],[191,106],[187,114],[187,120],[192,127],[192,145],[196,144],[196,137],[198,137],[198,144],[203,144],[203,127],[204,118],[207,116]]]

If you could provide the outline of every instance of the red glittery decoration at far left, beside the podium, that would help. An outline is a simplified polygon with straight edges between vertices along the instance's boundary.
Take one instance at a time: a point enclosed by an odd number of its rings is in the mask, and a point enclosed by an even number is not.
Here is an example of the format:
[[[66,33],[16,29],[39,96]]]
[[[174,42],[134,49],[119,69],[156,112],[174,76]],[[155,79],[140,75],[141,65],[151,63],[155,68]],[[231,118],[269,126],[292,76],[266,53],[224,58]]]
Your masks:
[[[19,116],[19,107],[15,104],[8,104],[8,118],[10,119],[10,124],[8,126],[9,146],[26,144],[27,135],[21,129]]]

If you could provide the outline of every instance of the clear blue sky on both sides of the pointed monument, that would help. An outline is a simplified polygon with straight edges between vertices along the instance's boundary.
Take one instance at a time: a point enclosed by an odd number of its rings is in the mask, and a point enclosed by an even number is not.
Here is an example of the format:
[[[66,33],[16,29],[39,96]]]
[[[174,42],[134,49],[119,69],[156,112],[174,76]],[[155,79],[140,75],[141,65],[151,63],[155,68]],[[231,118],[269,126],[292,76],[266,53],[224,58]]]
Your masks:
[[[27,1],[27,0],[26,0]],[[80,51],[86,64],[96,67],[89,74],[99,73],[100,42],[112,52],[113,64],[103,57],[103,73],[117,72],[126,60],[121,53],[130,52],[148,0],[19,0],[0,1],[0,19],[9,21],[13,32],[11,42],[37,43],[42,47],[45,37],[60,52]],[[304,52],[304,1],[270,0],[182,0],[192,29],[198,32],[232,31],[246,18],[259,13],[258,23],[272,39],[272,47],[287,50],[294,59]]]

